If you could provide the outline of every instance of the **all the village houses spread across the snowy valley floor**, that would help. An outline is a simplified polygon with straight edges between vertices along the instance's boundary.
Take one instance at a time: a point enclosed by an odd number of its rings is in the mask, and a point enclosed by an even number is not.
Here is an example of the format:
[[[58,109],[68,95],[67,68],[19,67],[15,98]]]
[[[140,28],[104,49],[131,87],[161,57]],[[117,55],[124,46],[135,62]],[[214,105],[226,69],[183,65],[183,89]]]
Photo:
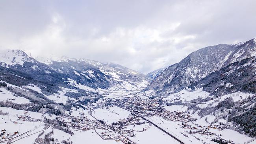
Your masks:
[[[206,136],[216,136],[223,142],[228,144],[233,144],[232,141],[221,139],[215,133],[209,131],[209,129],[217,129],[219,131],[223,130],[223,127],[219,125],[209,125],[207,127],[195,124],[197,118],[193,118],[186,111],[167,111],[164,106],[160,104],[161,102],[157,99],[142,99],[139,97],[132,98],[121,98],[114,100],[106,100],[98,103],[88,103],[88,111],[86,111],[91,118],[88,118],[88,114],[85,111],[78,110],[78,115],[65,114],[63,117],[64,123],[67,128],[71,131],[89,131],[93,130],[100,138],[103,140],[115,140],[116,142],[122,142],[124,144],[135,143],[132,141],[132,137],[136,137],[137,129],[135,126],[145,125],[143,129],[139,132],[147,131],[152,126],[152,123],[146,118],[157,116],[165,120],[172,122],[177,122],[178,126],[184,129],[183,132],[193,134],[200,134]],[[92,112],[96,109],[109,109],[109,107],[120,107],[126,111],[130,111],[130,114],[126,118],[121,118],[116,122],[108,124],[106,121],[99,120],[93,116]],[[39,119],[31,118],[25,111],[24,114],[17,116],[20,121],[37,122]],[[18,123],[18,122],[13,122]],[[193,126],[192,126],[193,125]],[[144,125],[143,125],[144,126]],[[183,134],[183,133],[182,133]],[[0,141],[8,140],[14,136],[18,136],[18,131],[13,131],[13,133],[6,133],[5,129],[2,129],[0,133]],[[186,136],[186,134],[183,134]]]

